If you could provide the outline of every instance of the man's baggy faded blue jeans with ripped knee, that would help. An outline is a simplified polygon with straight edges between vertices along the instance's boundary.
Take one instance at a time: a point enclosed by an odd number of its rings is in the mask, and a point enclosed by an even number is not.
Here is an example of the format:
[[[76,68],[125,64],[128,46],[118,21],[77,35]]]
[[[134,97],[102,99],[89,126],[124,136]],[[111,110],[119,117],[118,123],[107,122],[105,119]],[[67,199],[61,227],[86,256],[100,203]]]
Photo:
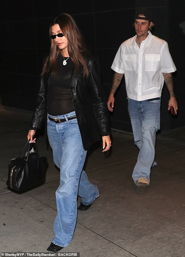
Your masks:
[[[160,98],[135,101],[128,98],[128,112],[132,124],[134,143],[139,148],[132,179],[150,182],[150,169],[155,157],[156,131],[160,129]],[[137,185],[138,186],[138,185]]]

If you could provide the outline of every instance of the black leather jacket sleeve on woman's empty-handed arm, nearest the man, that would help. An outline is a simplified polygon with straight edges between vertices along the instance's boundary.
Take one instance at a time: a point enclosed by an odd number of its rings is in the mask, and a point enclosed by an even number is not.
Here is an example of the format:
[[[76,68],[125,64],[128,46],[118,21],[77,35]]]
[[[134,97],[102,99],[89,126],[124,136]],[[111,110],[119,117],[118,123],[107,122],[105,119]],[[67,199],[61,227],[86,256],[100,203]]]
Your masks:
[[[91,100],[94,106],[95,117],[99,132],[102,136],[110,135],[109,112],[104,97],[100,64],[97,58],[92,60],[89,69]]]

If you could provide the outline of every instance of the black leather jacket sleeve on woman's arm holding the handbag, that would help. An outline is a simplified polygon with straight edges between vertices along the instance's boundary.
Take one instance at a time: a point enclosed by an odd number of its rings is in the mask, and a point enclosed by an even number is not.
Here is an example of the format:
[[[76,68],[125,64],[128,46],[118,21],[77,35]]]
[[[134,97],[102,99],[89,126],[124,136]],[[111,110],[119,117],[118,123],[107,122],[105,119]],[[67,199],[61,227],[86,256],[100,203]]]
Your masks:
[[[44,111],[45,111],[45,91],[44,91],[44,82],[43,78],[41,77],[41,85],[39,94],[36,101],[36,109],[33,113],[32,120],[30,123],[30,127],[34,128],[41,128],[42,123],[44,120]]]

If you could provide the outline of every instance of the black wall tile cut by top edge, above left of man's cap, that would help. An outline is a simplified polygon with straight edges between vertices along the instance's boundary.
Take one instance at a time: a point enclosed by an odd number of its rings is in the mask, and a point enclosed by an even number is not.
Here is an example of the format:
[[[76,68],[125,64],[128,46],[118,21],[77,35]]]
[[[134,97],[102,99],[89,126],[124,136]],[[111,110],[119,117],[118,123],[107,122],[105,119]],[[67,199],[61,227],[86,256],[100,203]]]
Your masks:
[[[135,0],[101,0],[94,1],[95,12],[97,11],[109,11],[118,9],[135,8]]]

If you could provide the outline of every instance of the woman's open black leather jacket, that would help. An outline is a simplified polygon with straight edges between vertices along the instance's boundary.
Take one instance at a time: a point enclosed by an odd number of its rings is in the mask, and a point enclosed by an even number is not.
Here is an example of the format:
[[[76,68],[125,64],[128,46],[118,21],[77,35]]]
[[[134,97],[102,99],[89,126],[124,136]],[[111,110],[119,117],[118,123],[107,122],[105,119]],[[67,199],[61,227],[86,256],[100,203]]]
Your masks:
[[[92,144],[100,140],[100,135],[110,135],[109,113],[104,98],[100,65],[95,57],[85,57],[89,76],[83,76],[83,66],[80,63],[77,74],[71,75],[71,95],[81,133],[83,147],[88,150]],[[43,120],[47,122],[47,98],[50,73],[41,78],[37,107],[30,126],[41,128]],[[47,123],[46,123],[47,124]]]

